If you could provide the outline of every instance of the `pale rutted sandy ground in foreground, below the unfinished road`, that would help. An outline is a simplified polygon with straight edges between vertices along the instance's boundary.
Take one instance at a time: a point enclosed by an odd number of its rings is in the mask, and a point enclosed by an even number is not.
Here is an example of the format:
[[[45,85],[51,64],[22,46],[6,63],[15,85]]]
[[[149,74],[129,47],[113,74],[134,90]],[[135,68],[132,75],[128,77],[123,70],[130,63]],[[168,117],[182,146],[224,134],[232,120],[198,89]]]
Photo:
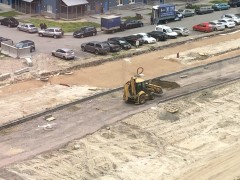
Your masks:
[[[239,86],[160,104],[5,170],[22,179],[237,179]]]

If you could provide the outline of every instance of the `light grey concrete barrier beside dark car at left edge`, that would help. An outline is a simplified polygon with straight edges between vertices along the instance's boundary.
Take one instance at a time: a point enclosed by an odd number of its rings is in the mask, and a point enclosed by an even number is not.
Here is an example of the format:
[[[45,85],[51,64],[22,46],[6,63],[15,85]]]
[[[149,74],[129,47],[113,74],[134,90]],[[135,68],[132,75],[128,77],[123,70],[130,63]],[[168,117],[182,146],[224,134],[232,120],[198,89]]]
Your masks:
[[[1,53],[13,58],[31,57],[30,47],[16,48],[12,41],[4,41],[1,43]]]

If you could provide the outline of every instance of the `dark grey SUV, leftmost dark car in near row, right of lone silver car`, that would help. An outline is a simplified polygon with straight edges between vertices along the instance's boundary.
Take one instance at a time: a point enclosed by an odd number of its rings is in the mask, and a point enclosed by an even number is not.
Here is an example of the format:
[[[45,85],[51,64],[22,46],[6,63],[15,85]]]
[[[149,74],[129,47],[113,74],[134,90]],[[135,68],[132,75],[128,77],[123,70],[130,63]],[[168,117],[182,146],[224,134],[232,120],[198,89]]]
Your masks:
[[[107,44],[98,41],[83,43],[81,44],[81,49],[82,51],[88,51],[95,54],[107,54],[110,52],[110,48]]]

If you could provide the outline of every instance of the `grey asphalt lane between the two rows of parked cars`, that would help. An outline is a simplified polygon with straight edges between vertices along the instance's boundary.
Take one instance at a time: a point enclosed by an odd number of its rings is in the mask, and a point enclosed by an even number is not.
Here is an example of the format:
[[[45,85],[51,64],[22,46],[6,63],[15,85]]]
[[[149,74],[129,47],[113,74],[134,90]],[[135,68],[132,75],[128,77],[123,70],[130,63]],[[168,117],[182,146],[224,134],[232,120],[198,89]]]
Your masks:
[[[211,20],[220,19],[221,15],[226,13],[240,13],[240,8],[231,8],[230,10],[226,11],[217,11],[211,14],[206,15],[195,15],[193,17],[188,17],[182,19],[182,21],[176,21],[176,22],[170,22],[168,25],[170,27],[176,27],[176,26],[184,26],[188,29],[192,29],[192,26],[201,22],[208,22]],[[127,36],[134,33],[140,33],[140,32],[150,32],[154,30],[155,25],[149,25],[146,24],[142,28],[135,28],[126,30],[124,32],[117,32],[114,34],[105,34],[104,32],[100,32],[97,36],[94,37],[87,37],[83,39],[76,39],[73,38],[71,35],[64,36],[60,39],[53,39],[49,37],[38,37],[38,34],[28,34],[22,31],[18,31],[16,28],[8,28],[5,26],[0,26],[0,36],[10,38],[14,41],[14,43],[17,43],[22,40],[33,40],[36,44],[36,52],[35,53],[50,53],[52,50],[55,50],[57,48],[70,48],[75,50],[76,52],[81,52],[80,46],[84,42],[89,41],[104,41],[109,37],[116,37],[116,36]],[[191,32],[192,35],[201,34],[201,32]],[[169,40],[171,41],[171,40]]]

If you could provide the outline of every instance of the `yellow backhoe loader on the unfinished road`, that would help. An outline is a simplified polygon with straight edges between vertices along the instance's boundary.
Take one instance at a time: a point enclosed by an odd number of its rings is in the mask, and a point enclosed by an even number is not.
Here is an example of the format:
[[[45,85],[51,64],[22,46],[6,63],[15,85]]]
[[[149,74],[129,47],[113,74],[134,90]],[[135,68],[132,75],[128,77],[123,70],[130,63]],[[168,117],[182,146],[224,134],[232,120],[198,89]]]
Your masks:
[[[162,94],[162,88],[158,85],[151,84],[140,78],[143,68],[137,69],[137,75],[131,77],[131,80],[124,85],[123,100],[134,102],[135,104],[144,104],[146,100],[155,99],[155,94]]]

